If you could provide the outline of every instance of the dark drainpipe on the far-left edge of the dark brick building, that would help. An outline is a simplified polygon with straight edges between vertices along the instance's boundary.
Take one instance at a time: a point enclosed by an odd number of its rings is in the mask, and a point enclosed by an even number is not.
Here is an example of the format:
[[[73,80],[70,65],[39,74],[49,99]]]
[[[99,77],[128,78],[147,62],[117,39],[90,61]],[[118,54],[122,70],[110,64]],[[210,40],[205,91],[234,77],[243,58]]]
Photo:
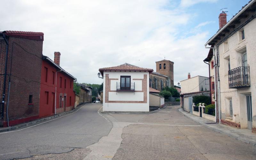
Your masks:
[[[2,34],[4,41],[6,43],[6,54],[5,54],[5,67],[4,67],[4,87],[3,87],[3,96],[2,96],[2,119],[4,119],[4,100],[5,100],[5,88],[6,88],[6,76],[7,76],[7,63],[8,63],[8,49],[9,49],[9,44],[6,40],[5,34]],[[9,94],[8,94],[9,96]]]

